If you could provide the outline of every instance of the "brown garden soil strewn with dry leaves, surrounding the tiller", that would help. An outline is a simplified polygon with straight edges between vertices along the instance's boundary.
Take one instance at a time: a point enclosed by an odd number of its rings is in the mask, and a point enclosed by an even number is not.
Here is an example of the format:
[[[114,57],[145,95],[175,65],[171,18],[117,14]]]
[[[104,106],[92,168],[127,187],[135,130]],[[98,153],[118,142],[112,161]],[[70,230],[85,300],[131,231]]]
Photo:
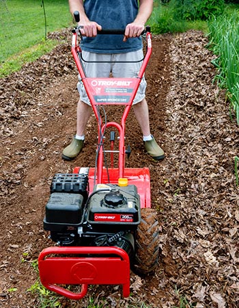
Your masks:
[[[126,166],[150,168],[158,269],[149,277],[132,273],[130,298],[121,298],[119,287],[95,286],[79,302],[59,297],[61,307],[87,307],[92,298],[96,307],[180,307],[182,300],[185,307],[239,306],[238,127],[225,93],[212,84],[216,71],[206,44],[196,31],[153,40],[147,101],[163,162],[145,154],[132,112],[126,123],[132,149]],[[42,225],[49,184],[57,172],[94,167],[94,116],[83,153],[74,162],[61,159],[75,131],[76,81],[69,44],[0,79],[1,307],[42,307],[27,289],[38,279],[32,261],[53,244]]]

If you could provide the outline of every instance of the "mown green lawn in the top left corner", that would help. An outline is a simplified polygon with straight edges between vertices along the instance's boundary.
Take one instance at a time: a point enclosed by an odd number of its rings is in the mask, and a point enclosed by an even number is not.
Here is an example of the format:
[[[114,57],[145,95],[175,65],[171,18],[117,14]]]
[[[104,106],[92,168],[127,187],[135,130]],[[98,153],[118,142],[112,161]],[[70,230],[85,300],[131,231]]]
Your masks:
[[[68,1],[44,0],[46,31],[72,24]],[[41,0],[0,1],[0,77],[51,50],[56,42],[44,41],[45,19]]]

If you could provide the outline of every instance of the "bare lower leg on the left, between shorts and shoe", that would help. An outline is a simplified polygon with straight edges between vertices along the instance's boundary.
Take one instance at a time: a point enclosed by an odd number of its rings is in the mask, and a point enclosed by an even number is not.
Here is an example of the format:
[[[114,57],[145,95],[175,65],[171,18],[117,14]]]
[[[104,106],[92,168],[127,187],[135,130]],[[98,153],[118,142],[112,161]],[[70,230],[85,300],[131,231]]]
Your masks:
[[[79,100],[77,105],[76,135],[83,136],[85,134],[85,127],[91,114],[92,106],[89,106]]]

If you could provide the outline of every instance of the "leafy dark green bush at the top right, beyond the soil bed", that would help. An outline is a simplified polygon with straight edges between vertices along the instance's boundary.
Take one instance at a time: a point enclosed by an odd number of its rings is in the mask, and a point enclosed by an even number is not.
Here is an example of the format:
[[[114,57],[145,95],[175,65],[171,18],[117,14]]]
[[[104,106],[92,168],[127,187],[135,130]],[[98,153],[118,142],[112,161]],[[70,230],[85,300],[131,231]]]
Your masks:
[[[224,0],[171,0],[175,18],[186,21],[207,21],[212,15],[218,16],[225,8]]]

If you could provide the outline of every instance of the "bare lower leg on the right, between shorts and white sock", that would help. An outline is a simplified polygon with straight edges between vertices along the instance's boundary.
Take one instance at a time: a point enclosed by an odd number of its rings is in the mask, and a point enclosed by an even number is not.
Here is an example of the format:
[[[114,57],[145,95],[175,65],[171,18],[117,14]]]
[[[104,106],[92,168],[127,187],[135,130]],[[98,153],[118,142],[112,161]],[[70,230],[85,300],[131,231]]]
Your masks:
[[[133,105],[133,108],[143,136],[150,136],[150,119],[146,99]]]

